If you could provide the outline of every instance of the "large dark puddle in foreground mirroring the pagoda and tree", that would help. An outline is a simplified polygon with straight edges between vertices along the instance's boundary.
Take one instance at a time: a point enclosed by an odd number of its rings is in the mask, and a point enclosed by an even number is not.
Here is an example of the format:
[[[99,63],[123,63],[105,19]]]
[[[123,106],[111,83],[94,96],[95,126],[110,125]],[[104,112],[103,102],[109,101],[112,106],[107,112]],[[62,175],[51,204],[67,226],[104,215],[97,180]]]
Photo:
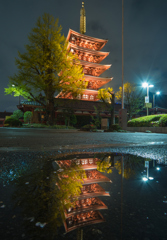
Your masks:
[[[13,154],[1,160],[0,236],[164,240],[166,183],[165,162],[133,155]]]

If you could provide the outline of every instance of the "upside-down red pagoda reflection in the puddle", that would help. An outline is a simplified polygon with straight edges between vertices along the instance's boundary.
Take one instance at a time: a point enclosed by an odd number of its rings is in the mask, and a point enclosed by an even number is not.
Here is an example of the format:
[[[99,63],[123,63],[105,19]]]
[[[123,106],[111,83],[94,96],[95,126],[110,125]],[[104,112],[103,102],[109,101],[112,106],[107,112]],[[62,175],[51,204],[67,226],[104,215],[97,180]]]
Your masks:
[[[111,167],[110,157],[107,157],[104,162],[105,165],[108,163],[107,166]],[[101,160],[98,158],[82,158],[57,160],[56,163],[60,167],[59,171],[63,171],[64,168],[69,168],[70,171],[73,164],[85,170],[81,194],[78,196],[78,200],[72,204],[72,207],[64,209],[64,227],[66,232],[86,225],[104,222],[105,219],[99,210],[108,209],[108,207],[97,196],[110,196],[110,194],[98,183],[111,183],[111,180],[97,170],[101,164]]]

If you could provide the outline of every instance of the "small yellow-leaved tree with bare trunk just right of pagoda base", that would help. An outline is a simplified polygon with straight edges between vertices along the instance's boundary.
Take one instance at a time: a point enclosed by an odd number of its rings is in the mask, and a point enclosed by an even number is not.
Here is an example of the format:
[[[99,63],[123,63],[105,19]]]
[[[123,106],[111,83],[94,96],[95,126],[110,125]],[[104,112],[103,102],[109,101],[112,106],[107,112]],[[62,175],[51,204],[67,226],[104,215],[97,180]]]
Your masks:
[[[103,101],[103,103],[106,105],[106,107],[109,109],[111,114],[111,122],[110,122],[110,128],[115,123],[115,94],[113,92],[113,88],[102,88],[98,91],[98,98]]]

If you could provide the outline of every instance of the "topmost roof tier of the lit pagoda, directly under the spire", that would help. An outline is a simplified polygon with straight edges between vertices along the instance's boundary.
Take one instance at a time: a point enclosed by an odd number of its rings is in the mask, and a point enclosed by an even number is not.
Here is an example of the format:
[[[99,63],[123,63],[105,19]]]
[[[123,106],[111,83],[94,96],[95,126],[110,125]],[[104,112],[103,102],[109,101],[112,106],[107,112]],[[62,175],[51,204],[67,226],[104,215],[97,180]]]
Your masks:
[[[71,34],[74,34],[78,37],[81,37],[81,38],[84,38],[86,40],[89,40],[89,41],[92,41],[92,42],[99,42],[99,43],[103,43],[102,46],[101,46],[101,49],[105,46],[105,44],[108,42],[107,39],[100,39],[100,38],[95,38],[95,37],[90,37],[90,36],[87,36],[85,34],[81,34],[81,33],[78,33],[72,29],[69,29],[68,31],[68,34],[67,34],[67,40],[69,41],[70,39],[70,36]]]

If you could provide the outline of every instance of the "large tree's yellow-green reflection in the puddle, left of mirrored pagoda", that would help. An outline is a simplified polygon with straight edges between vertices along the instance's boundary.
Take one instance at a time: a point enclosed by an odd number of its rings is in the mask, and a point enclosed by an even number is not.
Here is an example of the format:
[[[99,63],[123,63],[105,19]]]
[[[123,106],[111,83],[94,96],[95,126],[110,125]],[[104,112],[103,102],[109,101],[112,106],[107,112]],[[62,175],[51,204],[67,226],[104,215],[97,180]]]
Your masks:
[[[13,199],[15,207],[21,207],[29,239],[54,239],[64,208],[72,207],[81,193],[83,177],[84,171],[76,164],[54,171],[52,162],[46,161],[41,170],[15,181]]]

